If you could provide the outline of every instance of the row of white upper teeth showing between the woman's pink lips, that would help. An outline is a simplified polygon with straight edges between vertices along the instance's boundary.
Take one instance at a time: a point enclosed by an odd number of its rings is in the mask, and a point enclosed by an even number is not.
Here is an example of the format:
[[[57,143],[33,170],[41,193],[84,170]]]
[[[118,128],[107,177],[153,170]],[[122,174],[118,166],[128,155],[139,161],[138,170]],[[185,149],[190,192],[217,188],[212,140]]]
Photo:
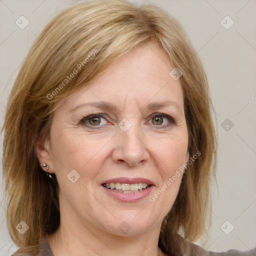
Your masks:
[[[149,185],[146,183],[135,183],[135,184],[128,184],[128,183],[104,183],[105,187],[110,189],[115,189],[122,193],[132,193],[132,192],[138,192],[141,191],[142,188],[145,189]]]

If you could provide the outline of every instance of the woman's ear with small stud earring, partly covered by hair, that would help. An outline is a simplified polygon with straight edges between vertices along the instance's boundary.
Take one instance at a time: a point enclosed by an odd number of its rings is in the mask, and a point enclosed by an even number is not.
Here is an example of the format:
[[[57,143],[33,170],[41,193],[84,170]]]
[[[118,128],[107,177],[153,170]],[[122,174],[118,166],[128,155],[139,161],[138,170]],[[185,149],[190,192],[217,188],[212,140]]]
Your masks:
[[[52,155],[50,153],[49,144],[50,143],[48,139],[45,139],[43,141],[40,137],[37,137],[34,143],[34,151],[40,163],[41,169],[49,173],[54,173],[53,165],[52,165],[53,163]],[[48,170],[46,170],[46,167],[42,167],[42,164],[44,162],[46,163],[46,165],[49,166]]]

